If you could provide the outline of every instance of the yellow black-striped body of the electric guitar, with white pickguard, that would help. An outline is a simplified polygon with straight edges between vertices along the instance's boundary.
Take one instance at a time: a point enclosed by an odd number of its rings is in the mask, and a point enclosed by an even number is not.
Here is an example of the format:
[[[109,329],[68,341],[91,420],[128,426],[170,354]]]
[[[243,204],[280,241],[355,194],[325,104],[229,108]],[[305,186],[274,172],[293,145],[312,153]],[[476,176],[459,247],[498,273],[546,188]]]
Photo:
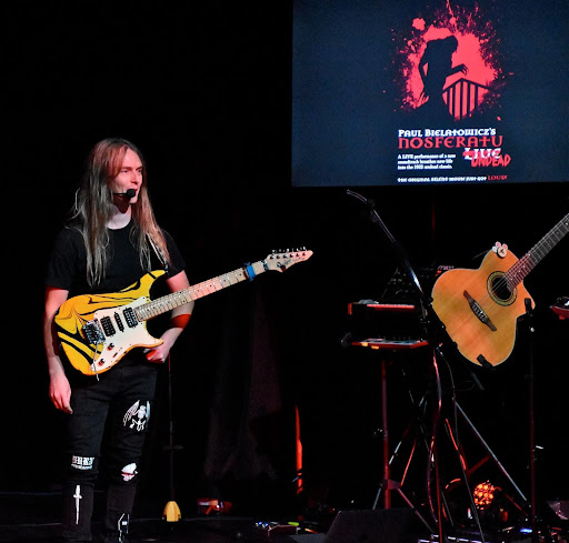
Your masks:
[[[56,331],[69,362],[86,375],[111,369],[130,350],[154,348],[146,321],[134,310],[149,301],[150,289],[163,271],[153,271],[112,294],[83,294],[67,300],[54,316]]]

